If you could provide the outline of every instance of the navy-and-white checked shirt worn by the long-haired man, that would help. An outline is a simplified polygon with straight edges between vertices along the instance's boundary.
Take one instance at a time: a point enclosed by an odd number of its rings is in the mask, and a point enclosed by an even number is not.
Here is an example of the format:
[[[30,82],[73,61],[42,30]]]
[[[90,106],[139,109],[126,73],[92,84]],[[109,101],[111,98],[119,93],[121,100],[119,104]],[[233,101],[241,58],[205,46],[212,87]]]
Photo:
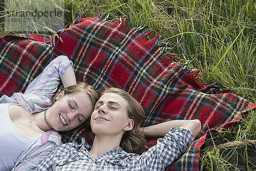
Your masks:
[[[171,128],[165,137],[157,140],[157,145],[141,155],[117,147],[94,159],[89,153],[91,146],[83,138],[81,145],[67,143],[55,148],[33,171],[164,171],[194,139],[185,128]]]

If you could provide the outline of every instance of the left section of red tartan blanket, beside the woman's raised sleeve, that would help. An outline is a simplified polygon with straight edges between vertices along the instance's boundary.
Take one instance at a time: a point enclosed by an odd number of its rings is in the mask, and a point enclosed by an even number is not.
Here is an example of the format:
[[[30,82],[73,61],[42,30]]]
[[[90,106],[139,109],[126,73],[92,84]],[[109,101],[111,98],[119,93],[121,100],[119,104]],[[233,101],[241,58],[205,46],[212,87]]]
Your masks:
[[[6,35],[0,38],[0,96],[24,92],[52,60],[54,45],[35,41],[38,36],[33,36]],[[43,39],[40,36],[38,40]]]

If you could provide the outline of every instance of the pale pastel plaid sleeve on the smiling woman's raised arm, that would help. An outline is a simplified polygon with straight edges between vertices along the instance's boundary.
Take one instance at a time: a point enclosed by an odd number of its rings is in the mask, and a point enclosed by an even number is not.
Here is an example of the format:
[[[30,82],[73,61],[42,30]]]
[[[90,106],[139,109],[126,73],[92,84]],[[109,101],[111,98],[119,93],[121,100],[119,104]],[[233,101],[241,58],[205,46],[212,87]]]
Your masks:
[[[73,65],[67,56],[58,56],[29,84],[24,94],[14,93],[11,98],[17,100],[29,113],[47,109],[51,105],[52,96],[57,90],[61,76],[70,64]]]

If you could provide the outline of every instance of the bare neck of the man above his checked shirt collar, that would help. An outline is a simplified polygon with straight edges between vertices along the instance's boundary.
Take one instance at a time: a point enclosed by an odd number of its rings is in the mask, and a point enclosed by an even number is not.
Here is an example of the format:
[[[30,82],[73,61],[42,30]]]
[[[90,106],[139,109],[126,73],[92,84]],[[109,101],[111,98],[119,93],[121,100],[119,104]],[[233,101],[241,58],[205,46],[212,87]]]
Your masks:
[[[89,151],[93,158],[116,149],[120,145],[122,135],[113,136],[97,136],[93,140],[93,146]]]

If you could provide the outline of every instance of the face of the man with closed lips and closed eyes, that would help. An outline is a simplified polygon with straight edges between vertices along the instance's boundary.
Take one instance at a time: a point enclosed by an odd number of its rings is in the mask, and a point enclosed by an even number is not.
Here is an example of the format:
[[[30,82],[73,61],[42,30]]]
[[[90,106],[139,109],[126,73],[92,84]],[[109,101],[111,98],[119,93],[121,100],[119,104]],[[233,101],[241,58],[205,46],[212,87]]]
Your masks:
[[[91,116],[91,128],[96,135],[119,135],[133,127],[128,118],[127,104],[116,93],[105,93],[96,102]],[[130,123],[132,122],[132,123]]]

